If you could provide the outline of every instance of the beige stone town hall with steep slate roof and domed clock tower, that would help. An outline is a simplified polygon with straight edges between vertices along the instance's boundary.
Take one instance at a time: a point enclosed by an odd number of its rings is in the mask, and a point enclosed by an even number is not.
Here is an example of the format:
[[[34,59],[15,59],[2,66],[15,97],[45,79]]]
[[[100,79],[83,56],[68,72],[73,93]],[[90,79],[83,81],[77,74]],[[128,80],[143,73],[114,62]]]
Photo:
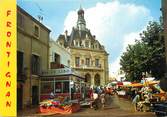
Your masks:
[[[70,66],[85,77],[85,82],[91,85],[104,85],[108,81],[108,53],[86,28],[84,10],[78,11],[77,26],[68,35],[60,35],[57,43],[69,48],[71,53]]]

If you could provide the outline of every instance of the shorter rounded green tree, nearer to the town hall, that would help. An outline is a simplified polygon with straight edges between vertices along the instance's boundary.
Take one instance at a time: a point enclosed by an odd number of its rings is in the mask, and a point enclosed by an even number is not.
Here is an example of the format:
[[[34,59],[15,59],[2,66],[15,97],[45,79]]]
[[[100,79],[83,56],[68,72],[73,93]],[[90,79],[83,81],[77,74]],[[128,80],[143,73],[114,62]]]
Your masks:
[[[142,72],[148,71],[146,59],[148,50],[144,43],[137,41],[135,45],[129,45],[127,52],[121,56],[120,65],[125,71],[126,77],[130,81],[140,81]]]

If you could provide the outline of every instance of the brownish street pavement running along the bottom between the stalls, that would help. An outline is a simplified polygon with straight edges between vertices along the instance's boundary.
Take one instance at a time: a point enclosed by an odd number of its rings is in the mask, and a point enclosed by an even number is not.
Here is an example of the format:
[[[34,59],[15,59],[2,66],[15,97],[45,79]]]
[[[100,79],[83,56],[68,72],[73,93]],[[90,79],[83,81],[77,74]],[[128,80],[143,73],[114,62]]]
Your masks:
[[[110,98],[110,106],[106,106],[102,110],[94,110],[89,107],[82,107],[77,113],[70,115],[53,115],[53,114],[39,114],[37,108],[26,109],[18,112],[19,117],[156,117],[151,112],[135,112],[129,100],[117,98],[112,96]]]

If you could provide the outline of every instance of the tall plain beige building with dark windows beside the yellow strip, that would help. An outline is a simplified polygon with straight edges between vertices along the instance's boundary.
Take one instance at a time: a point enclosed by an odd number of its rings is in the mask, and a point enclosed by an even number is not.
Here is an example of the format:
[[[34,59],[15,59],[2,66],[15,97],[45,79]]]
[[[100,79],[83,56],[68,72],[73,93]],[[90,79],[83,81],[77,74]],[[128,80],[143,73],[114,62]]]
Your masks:
[[[50,30],[17,7],[17,108],[39,101],[39,74],[49,65]]]

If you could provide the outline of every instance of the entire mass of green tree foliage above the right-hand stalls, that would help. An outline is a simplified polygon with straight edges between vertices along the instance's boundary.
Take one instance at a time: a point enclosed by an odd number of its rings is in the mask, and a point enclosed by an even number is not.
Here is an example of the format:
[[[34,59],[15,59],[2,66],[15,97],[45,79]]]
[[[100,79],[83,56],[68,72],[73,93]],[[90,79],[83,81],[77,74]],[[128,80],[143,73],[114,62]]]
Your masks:
[[[141,40],[129,45],[120,59],[121,69],[127,79],[140,80],[142,73],[151,73],[153,77],[162,78],[165,72],[165,43],[161,36],[162,25],[149,22],[140,34]]]

